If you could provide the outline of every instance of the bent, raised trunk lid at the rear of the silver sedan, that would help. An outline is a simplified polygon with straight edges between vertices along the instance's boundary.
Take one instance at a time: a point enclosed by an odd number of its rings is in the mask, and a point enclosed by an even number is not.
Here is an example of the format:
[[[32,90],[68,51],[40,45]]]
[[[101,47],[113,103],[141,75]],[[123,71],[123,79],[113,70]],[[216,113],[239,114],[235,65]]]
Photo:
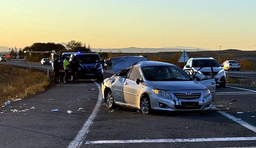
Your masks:
[[[116,74],[123,69],[136,65],[138,62],[147,61],[147,58],[138,56],[124,56],[111,58],[110,61],[112,62],[113,72]]]

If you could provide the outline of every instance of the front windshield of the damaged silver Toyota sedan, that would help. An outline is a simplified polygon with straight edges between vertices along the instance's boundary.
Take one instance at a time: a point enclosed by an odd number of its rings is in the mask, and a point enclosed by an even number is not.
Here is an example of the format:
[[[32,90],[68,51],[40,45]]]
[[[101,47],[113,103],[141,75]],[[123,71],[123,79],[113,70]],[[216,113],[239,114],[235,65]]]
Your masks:
[[[192,81],[192,78],[177,66],[142,67],[148,81]]]

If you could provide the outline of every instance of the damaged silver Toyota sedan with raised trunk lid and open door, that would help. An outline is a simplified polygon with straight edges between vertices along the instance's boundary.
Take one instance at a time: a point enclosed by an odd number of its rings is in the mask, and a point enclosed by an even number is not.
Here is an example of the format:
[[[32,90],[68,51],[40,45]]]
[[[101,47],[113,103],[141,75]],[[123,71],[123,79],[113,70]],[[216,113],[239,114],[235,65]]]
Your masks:
[[[102,83],[109,109],[124,105],[151,110],[207,110],[215,95],[215,80],[195,81],[180,67],[144,57],[112,59],[114,75]]]

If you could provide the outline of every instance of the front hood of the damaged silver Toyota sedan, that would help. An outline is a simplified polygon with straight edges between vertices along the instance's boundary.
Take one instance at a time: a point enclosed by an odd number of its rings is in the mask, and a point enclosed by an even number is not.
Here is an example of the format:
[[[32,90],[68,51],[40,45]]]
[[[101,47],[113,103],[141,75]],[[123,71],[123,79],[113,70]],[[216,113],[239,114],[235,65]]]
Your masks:
[[[197,81],[148,81],[148,84],[163,90],[205,90]]]

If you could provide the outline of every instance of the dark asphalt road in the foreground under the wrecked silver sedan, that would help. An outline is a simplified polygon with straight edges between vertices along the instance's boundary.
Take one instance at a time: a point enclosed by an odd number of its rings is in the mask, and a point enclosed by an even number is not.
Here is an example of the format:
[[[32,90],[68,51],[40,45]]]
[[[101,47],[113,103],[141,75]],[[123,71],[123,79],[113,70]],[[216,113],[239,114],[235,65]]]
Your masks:
[[[106,109],[93,81],[60,83],[1,108],[6,111],[0,113],[0,147],[255,147],[256,88],[216,92],[208,111],[144,115],[121,106]],[[84,112],[77,111],[81,107]]]

